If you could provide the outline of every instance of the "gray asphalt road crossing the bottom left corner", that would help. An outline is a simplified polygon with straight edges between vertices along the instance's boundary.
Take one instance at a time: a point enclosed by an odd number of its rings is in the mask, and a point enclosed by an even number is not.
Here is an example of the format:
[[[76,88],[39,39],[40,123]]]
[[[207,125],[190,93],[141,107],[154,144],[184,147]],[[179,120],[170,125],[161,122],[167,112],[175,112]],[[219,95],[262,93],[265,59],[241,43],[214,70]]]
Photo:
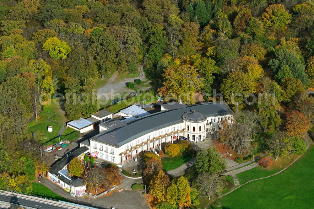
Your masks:
[[[40,209],[63,209],[64,208],[64,207],[60,207],[60,206],[55,206],[55,205],[37,202],[37,201],[33,201],[33,200],[27,200],[27,199],[24,199],[21,197],[9,196],[9,195],[5,195],[5,194],[0,194],[0,200],[5,201],[5,202],[14,203],[14,204],[19,204],[22,206],[28,206],[28,207],[40,208]]]

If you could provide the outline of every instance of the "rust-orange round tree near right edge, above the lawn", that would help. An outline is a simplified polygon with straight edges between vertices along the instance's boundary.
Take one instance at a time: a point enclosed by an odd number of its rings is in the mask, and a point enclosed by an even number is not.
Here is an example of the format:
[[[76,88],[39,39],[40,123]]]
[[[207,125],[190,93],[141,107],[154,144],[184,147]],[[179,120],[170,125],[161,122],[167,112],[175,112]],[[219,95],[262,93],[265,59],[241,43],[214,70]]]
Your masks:
[[[287,114],[287,122],[284,129],[291,137],[302,137],[309,130],[310,123],[306,120],[303,113],[291,110]]]

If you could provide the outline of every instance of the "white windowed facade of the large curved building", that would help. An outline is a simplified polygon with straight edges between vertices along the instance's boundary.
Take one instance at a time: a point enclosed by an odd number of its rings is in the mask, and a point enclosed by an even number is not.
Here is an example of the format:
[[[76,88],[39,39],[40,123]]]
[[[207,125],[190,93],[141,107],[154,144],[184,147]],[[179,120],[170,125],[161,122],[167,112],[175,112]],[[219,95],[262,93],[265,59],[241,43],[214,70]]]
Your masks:
[[[203,141],[207,132],[218,131],[219,127],[221,128],[219,121],[226,118],[230,123],[230,116],[205,117],[198,122],[183,119],[183,122],[151,131],[120,147],[114,147],[91,139],[90,153],[97,152],[98,158],[113,163],[123,163],[123,161],[128,161],[131,157],[135,158],[138,153],[144,150],[153,150],[153,148],[159,147],[161,143],[173,142],[173,137],[183,136],[188,138],[190,142]]]

